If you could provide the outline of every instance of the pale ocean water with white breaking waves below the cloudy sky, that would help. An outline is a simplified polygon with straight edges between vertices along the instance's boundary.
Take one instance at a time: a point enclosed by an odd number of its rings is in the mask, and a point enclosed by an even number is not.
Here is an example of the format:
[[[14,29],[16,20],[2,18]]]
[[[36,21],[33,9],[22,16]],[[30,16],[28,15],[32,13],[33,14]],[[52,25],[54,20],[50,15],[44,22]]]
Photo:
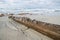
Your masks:
[[[27,13],[42,13],[42,14],[53,14],[53,12],[60,12],[60,9],[0,9],[0,12],[3,13],[21,13],[21,12],[27,12]],[[56,13],[54,13],[56,14]]]

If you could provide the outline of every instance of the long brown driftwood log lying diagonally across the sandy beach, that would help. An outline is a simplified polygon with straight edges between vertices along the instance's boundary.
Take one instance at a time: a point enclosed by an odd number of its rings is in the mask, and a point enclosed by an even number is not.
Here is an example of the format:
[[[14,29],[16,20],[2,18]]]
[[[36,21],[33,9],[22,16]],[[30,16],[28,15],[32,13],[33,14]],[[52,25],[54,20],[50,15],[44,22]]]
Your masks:
[[[27,27],[33,28],[44,35],[49,36],[54,40],[60,40],[60,25],[31,20],[27,17],[22,17],[21,19],[22,20],[14,20],[26,25]]]

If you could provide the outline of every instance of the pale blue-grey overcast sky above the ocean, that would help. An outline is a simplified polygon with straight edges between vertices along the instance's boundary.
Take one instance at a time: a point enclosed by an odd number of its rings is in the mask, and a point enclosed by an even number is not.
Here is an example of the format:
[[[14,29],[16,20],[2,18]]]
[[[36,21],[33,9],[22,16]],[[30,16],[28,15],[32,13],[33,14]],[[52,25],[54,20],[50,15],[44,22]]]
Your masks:
[[[60,9],[60,0],[0,0],[4,9]]]

